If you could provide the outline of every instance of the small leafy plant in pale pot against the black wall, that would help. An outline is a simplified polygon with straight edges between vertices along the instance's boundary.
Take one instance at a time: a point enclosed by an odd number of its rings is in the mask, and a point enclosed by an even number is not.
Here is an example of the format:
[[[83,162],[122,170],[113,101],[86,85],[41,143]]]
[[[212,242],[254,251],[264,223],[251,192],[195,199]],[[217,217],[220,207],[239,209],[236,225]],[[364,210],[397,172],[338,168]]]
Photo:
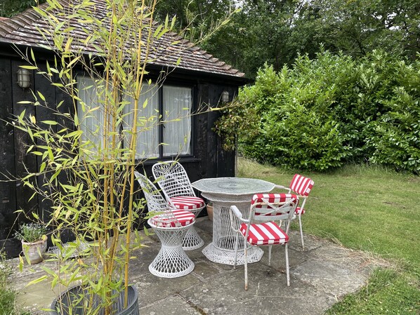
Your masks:
[[[28,264],[38,264],[44,260],[46,252],[46,227],[41,223],[23,223],[15,233],[22,242],[22,252]]]

